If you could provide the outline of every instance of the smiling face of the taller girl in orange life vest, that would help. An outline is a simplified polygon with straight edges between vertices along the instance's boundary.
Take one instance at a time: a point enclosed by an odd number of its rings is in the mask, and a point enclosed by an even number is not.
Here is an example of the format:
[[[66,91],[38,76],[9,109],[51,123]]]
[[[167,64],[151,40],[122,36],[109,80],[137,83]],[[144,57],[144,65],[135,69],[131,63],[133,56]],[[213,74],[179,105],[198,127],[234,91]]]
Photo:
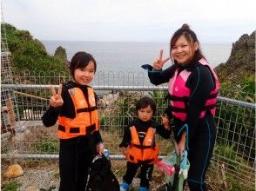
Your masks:
[[[87,85],[93,80],[95,74],[95,64],[90,61],[88,65],[82,69],[74,70],[74,80],[81,85]]]

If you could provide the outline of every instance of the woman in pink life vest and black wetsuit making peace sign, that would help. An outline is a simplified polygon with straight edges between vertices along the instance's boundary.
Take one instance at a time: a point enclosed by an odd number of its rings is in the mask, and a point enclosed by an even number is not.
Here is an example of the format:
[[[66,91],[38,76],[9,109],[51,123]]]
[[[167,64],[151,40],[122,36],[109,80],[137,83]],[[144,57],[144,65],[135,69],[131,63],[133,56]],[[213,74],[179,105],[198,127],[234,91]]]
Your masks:
[[[162,70],[169,58],[164,59],[161,50],[153,66],[147,66],[148,76],[155,85],[168,82],[170,104],[166,113],[173,118],[179,152],[188,151],[190,190],[207,190],[205,173],[216,138],[213,116],[219,81],[201,53],[196,34],[187,24],[173,34],[170,55],[174,64]]]

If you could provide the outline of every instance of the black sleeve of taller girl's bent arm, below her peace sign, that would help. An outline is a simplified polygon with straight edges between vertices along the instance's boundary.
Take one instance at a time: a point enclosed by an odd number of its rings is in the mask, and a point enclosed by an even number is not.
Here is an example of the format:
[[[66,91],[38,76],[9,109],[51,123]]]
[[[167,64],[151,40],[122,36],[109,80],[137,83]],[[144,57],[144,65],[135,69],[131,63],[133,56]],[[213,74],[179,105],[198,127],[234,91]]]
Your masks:
[[[51,127],[57,122],[57,117],[61,108],[49,107],[42,116],[42,121],[45,127]]]

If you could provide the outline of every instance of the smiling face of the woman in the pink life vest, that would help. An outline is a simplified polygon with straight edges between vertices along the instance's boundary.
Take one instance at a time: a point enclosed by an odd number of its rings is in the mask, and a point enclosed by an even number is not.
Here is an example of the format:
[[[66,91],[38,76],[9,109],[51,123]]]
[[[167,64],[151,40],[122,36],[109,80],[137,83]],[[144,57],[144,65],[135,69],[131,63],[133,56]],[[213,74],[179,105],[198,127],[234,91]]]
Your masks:
[[[198,42],[189,43],[184,35],[179,36],[171,49],[172,58],[177,63],[189,63],[198,49],[198,45]]]

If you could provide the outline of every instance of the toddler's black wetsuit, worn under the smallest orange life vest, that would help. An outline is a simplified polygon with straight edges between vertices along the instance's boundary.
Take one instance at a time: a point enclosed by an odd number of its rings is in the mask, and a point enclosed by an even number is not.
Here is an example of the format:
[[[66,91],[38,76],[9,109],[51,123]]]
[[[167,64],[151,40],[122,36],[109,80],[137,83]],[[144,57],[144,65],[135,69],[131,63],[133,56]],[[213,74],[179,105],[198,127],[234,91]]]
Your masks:
[[[163,125],[158,125],[157,123],[153,122],[152,120],[149,122],[142,122],[139,119],[134,119],[128,127],[125,128],[123,141],[119,145],[120,148],[125,147],[127,148],[128,145],[131,143],[131,130],[130,127],[135,126],[136,130],[138,132],[138,138],[139,142],[142,144],[145,138],[145,133],[147,132],[148,128],[156,128],[156,132],[158,135],[161,135],[165,139],[170,138],[171,131],[166,130]],[[153,171],[153,164],[144,164],[144,165],[138,165],[136,163],[133,163],[131,161],[127,161],[127,169],[125,172],[125,175],[123,177],[123,180],[131,184],[132,179],[136,175],[136,172],[138,168],[140,167],[140,186],[149,188],[149,181],[152,178],[152,171]]]

